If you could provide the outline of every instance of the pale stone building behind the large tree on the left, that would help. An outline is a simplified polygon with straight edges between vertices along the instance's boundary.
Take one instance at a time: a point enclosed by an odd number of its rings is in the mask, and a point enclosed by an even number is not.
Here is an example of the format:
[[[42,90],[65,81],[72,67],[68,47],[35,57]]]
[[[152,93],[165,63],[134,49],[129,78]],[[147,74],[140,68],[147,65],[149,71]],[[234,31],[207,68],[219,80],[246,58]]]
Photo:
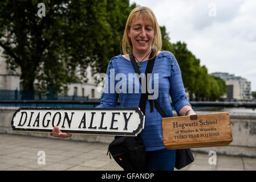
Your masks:
[[[21,70],[10,71],[7,68],[6,60],[2,57],[3,49],[0,47],[0,90],[21,90]],[[89,99],[99,99],[102,88],[96,86],[96,82],[91,73],[91,67],[87,67],[87,83],[72,83],[68,85],[68,90],[63,93],[66,96],[84,96]],[[35,81],[36,82],[36,81]],[[36,86],[36,85],[35,85]],[[101,88],[101,89],[100,89]]]

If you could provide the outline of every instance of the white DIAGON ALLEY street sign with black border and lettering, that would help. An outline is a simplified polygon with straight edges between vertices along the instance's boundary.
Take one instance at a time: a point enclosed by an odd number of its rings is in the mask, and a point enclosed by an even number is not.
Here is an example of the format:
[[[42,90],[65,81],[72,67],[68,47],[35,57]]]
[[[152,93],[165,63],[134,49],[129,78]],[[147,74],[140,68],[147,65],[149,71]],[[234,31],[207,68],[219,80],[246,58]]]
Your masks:
[[[60,108],[21,107],[11,121],[14,131],[136,136],[144,128],[145,116],[137,107]]]

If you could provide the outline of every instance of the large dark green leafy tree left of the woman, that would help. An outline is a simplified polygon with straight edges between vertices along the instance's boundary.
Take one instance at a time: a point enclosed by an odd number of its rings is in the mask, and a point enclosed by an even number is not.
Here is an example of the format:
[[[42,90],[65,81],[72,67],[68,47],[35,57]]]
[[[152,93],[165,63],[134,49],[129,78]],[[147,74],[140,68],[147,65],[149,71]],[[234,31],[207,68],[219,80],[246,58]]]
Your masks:
[[[120,53],[129,1],[40,2],[46,6],[42,18],[39,1],[0,2],[0,46],[9,67],[21,68],[23,90],[34,90],[37,80],[40,92],[59,93],[70,82],[85,82],[88,65],[105,72]]]

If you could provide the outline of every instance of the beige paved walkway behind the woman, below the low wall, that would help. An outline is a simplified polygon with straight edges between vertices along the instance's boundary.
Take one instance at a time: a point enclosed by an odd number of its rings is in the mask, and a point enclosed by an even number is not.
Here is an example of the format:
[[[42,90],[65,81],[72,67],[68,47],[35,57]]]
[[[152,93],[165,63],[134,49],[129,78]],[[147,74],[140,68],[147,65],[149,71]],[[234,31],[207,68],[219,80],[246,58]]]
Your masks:
[[[106,155],[107,146],[106,143],[0,134],[0,170],[122,170]],[[211,165],[208,154],[193,153],[195,161],[182,170],[256,170],[256,158],[217,154],[217,164]]]

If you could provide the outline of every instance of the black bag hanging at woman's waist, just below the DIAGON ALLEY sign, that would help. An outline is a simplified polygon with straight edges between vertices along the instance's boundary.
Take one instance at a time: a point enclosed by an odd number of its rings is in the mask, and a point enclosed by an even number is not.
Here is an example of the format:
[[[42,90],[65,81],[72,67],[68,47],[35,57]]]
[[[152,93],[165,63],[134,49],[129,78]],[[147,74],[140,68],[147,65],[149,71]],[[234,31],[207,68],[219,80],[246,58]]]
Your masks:
[[[146,147],[140,135],[137,137],[115,137],[109,144],[108,151],[125,171],[145,169]]]

